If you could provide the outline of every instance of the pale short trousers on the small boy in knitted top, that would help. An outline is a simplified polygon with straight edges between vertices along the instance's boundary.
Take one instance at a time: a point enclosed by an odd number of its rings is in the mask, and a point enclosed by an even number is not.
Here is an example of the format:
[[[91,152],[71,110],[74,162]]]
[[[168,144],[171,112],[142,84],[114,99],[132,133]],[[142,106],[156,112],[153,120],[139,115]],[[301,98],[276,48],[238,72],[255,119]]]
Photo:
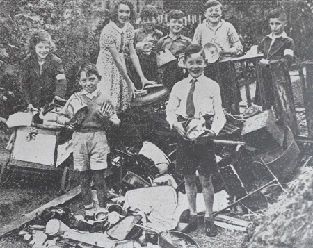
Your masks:
[[[72,137],[74,170],[103,170],[108,167],[110,152],[105,131],[90,133],[74,132]]]

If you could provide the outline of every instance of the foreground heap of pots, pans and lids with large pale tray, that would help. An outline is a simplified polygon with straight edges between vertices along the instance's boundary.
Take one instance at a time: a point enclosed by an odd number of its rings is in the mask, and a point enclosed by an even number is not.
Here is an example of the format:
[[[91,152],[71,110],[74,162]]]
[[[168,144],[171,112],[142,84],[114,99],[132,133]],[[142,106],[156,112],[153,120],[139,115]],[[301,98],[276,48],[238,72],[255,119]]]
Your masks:
[[[172,186],[129,190],[122,198],[124,204],[110,204],[107,210],[96,212],[95,220],[74,215],[70,208],[47,208],[35,225],[19,234],[33,248],[199,247],[183,232],[189,210],[178,204]]]

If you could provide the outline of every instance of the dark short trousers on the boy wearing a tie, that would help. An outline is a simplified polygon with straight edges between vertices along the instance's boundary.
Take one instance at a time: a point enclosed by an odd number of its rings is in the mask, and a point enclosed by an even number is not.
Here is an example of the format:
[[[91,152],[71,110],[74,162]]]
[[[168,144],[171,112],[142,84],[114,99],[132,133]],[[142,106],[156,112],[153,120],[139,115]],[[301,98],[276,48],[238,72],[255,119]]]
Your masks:
[[[176,154],[176,172],[178,174],[193,175],[196,170],[203,176],[218,173],[213,140],[204,144],[196,144],[179,137]]]

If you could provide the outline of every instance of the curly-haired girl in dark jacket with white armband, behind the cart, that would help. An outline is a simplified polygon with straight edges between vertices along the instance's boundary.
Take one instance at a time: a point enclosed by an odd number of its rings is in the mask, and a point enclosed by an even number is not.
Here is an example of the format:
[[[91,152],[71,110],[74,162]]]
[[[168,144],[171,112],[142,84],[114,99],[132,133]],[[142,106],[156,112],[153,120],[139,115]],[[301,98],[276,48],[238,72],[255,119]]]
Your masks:
[[[56,46],[47,31],[34,33],[29,40],[30,55],[22,62],[22,89],[29,110],[41,108],[53,99],[65,97],[67,82],[63,64],[55,56]]]

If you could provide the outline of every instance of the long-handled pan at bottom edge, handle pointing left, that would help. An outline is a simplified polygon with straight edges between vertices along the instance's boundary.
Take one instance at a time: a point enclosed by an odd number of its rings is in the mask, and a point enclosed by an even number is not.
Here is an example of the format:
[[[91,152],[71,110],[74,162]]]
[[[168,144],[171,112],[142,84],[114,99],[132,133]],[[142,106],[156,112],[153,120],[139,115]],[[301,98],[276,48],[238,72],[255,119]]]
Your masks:
[[[162,231],[159,232],[147,226],[134,224],[134,226],[141,227],[146,231],[152,231],[158,235],[158,243],[161,248],[200,248],[197,242],[189,235],[180,231]]]

